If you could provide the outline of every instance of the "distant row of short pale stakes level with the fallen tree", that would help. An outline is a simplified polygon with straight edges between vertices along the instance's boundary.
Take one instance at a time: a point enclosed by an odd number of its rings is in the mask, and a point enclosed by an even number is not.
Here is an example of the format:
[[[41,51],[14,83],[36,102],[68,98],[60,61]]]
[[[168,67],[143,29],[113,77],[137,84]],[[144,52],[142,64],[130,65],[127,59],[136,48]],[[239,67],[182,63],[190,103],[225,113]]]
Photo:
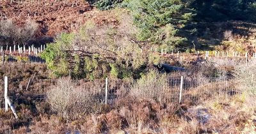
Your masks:
[[[4,59],[5,62],[17,62],[17,61],[24,61],[29,63],[45,63],[45,60],[42,59],[38,54],[40,52],[43,52],[45,50],[45,45],[40,45],[40,47],[34,47],[34,45],[26,47],[26,45],[13,45],[11,46],[0,46],[0,54],[3,55],[3,53],[6,55],[5,58],[2,56],[2,61]],[[91,50],[92,48],[90,48]],[[114,51],[120,51],[122,52],[123,48],[115,48]],[[186,56],[186,53],[181,53],[179,50],[170,49],[170,48],[150,48],[150,50],[147,50],[149,52],[153,52],[154,54],[157,54],[159,56],[171,56],[171,57],[177,57],[179,58],[180,63],[182,63],[183,56]],[[141,49],[141,52],[143,50]],[[190,53],[191,54],[191,53]],[[218,57],[218,58],[239,58],[243,59],[245,63],[247,64],[250,59],[256,59],[256,53],[251,52],[250,54],[248,52],[237,52],[237,51],[196,51],[195,56],[202,56],[205,60],[212,58],[212,57]]]

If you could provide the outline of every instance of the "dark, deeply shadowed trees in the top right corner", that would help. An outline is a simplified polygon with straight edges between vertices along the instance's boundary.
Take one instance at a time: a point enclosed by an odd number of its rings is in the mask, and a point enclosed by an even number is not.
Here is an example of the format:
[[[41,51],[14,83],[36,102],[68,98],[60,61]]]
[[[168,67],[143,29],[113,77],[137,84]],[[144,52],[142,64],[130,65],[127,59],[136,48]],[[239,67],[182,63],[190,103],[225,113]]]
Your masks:
[[[256,22],[255,0],[196,0],[191,7],[197,11],[198,22],[226,20]]]

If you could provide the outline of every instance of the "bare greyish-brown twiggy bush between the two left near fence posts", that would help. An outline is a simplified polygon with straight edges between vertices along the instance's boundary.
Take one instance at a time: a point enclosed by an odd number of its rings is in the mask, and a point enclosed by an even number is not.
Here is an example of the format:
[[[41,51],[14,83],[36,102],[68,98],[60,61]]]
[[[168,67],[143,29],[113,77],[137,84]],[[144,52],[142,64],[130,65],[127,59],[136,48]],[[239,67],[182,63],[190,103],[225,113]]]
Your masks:
[[[60,78],[56,86],[47,92],[47,102],[54,112],[71,119],[97,112],[100,103],[93,98],[93,91],[77,88],[77,84],[68,78]]]

